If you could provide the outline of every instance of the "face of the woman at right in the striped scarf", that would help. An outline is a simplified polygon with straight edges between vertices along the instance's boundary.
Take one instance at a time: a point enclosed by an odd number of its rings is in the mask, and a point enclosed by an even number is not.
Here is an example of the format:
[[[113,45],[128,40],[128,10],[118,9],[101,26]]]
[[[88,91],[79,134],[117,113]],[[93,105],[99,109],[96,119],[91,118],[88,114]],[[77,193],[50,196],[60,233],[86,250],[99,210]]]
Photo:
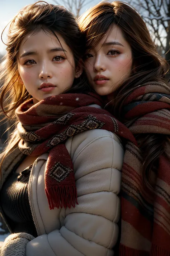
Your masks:
[[[86,55],[86,75],[99,95],[113,93],[124,78],[129,77],[131,69],[131,47],[118,26],[114,26],[111,33],[107,32],[99,44]]]

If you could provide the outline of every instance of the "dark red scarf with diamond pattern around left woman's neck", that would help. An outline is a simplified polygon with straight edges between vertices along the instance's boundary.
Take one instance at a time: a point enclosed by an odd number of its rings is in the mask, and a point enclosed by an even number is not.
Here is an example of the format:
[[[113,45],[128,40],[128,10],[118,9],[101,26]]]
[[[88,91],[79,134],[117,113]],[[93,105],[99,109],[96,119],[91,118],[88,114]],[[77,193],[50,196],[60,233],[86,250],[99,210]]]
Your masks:
[[[49,208],[75,207],[77,190],[73,163],[65,147],[71,136],[90,129],[104,129],[136,143],[132,133],[101,106],[95,94],[51,96],[33,105],[27,100],[16,109],[19,149],[29,156],[49,152],[45,170],[45,191]],[[97,149],[96,149],[97,150]],[[95,164],[95,163],[94,163]]]

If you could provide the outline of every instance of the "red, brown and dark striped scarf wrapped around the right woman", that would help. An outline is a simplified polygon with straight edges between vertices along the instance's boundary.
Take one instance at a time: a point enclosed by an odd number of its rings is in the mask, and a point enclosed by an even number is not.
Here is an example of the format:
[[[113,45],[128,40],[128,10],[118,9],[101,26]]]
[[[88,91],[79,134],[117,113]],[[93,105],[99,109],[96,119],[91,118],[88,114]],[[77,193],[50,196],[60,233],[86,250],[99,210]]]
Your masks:
[[[133,134],[165,134],[169,140],[170,87],[159,82],[138,87],[126,100],[124,116],[127,120],[135,118],[129,127]],[[128,142],[122,170],[119,255],[169,256],[170,162],[165,154],[159,158],[153,193],[142,183],[142,164],[142,152]]]

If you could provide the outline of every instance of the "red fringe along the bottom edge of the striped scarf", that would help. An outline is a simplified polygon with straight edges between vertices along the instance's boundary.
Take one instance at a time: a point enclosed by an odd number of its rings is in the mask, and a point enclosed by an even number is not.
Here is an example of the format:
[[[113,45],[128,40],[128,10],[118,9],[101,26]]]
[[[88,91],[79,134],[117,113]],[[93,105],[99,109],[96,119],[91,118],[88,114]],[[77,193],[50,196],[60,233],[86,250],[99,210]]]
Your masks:
[[[155,244],[152,244],[151,252],[136,250],[120,244],[119,256],[170,256],[170,251],[160,248]]]

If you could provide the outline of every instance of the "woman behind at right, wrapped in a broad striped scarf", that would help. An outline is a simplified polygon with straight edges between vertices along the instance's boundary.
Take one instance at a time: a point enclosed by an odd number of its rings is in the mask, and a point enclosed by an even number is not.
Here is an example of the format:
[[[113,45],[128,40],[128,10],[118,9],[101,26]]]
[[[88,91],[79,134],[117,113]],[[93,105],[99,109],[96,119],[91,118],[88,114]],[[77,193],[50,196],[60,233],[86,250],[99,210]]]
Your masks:
[[[169,66],[128,4],[101,2],[79,25],[91,87],[137,142],[124,142],[119,255],[170,255]]]

